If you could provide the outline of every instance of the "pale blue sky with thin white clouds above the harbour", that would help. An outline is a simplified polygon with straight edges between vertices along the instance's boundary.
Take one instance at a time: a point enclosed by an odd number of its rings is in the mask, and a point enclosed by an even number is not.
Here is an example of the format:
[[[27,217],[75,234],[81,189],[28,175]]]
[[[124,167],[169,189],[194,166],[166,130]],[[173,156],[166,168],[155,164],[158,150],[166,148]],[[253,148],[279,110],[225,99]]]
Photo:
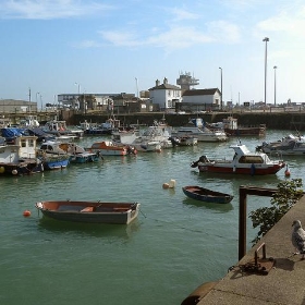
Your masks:
[[[305,102],[304,0],[0,0],[0,99],[137,95],[180,73],[221,89],[222,72],[223,101],[258,102],[267,62],[266,102]]]

